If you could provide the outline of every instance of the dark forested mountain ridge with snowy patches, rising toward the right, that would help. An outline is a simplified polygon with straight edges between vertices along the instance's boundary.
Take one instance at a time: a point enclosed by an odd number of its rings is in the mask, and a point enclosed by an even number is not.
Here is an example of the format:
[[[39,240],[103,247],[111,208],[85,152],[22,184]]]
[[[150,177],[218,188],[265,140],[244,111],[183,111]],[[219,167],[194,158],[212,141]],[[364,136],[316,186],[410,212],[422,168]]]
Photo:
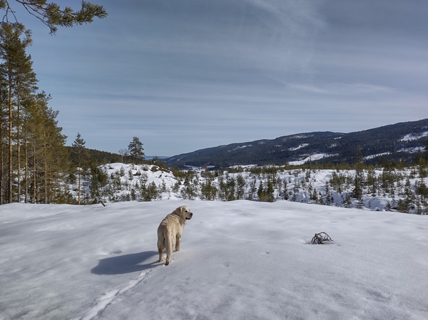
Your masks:
[[[227,167],[230,165],[294,165],[309,161],[352,163],[360,145],[365,162],[412,161],[424,151],[428,139],[428,119],[384,125],[354,133],[312,132],[285,135],[272,140],[232,143],[192,153],[174,155],[168,166]]]

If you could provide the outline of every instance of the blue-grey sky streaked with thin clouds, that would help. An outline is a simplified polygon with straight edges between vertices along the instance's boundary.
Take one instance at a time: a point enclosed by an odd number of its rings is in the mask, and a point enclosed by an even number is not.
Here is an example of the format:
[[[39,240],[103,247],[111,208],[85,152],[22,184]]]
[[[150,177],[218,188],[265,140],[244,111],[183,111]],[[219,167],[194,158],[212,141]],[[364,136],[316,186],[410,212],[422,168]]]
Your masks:
[[[16,14],[68,145],[177,155],[428,118],[426,0],[91,2],[108,17],[56,36]]]

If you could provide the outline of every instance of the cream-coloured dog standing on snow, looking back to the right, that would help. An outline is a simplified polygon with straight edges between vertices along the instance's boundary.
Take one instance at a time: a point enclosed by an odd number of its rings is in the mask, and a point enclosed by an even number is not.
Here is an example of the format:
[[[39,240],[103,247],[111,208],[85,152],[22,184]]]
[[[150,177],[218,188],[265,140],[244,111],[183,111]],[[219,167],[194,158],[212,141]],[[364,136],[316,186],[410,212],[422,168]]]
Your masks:
[[[181,233],[185,220],[190,220],[193,213],[190,212],[189,207],[182,205],[170,213],[162,220],[158,227],[158,252],[159,262],[163,262],[163,249],[166,251],[165,266],[170,263],[173,248],[175,251],[180,251]]]

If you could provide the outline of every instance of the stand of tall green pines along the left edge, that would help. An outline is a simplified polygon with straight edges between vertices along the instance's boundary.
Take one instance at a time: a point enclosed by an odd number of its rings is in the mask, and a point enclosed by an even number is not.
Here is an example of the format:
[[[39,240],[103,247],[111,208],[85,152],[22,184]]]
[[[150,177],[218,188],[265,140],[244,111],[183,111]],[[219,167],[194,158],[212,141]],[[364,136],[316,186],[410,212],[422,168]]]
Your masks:
[[[51,202],[61,197],[68,164],[51,96],[39,91],[26,53],[31,32],[22,24],[0,25],[0,203]]]

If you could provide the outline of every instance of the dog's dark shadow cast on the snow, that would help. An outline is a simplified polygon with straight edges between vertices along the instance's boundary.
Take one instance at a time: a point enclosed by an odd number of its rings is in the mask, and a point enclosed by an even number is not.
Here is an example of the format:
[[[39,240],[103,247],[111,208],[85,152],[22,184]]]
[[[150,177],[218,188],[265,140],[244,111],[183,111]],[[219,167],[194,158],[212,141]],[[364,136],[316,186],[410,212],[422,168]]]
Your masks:
[[[158,255],[157,251],[145,251],[98,260],[98,266],[91,269],[93,274],[128,274],[156,267],[159,262],[144,263]]]

